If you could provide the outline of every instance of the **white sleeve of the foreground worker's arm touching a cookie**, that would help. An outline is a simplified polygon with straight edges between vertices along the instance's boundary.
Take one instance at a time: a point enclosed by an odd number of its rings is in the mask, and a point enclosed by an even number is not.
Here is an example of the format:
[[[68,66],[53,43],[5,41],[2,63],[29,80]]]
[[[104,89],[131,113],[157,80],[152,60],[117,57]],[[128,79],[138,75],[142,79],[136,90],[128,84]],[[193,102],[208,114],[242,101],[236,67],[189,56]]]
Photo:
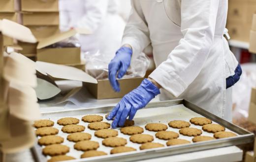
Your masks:
[[[168,55],[167,60],[149,76],[175,97],[193,82],[209,55],[219,1],[182,0],[181,32],[184,37]]]

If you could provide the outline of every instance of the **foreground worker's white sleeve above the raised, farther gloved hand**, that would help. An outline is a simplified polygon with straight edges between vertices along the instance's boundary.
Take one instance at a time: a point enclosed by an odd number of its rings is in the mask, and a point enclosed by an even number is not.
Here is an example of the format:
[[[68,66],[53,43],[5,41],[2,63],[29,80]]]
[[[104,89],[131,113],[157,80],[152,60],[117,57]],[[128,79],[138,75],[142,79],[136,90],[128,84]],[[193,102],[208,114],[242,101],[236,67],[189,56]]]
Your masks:
[[[122,45],[132,47],[132,60],[150,44],[149,29],[142,12],[140,0],[131,0],[131,11],[125,27]]]

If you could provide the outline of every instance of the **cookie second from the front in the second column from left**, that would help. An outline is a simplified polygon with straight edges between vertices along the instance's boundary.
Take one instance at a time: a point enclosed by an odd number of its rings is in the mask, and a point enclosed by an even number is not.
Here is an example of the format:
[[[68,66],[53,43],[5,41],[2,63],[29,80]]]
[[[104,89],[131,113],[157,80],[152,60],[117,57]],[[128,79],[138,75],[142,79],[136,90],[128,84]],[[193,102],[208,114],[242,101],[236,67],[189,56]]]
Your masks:
[[[98,142],[93,140],[82,140],[74,144],[74,149],[79,151],[96,150],[98,147]]]

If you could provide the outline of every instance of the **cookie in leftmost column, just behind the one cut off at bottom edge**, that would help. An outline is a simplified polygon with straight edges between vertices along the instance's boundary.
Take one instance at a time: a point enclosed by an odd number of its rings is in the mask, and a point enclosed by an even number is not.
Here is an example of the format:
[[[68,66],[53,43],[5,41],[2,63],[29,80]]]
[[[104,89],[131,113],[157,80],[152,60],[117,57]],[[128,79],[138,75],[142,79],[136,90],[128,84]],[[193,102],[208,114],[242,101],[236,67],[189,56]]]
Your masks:
[[[69,147],[63,144],[51,144],[43,148],[43,154],[49,156],[64,155],[69,152]]]

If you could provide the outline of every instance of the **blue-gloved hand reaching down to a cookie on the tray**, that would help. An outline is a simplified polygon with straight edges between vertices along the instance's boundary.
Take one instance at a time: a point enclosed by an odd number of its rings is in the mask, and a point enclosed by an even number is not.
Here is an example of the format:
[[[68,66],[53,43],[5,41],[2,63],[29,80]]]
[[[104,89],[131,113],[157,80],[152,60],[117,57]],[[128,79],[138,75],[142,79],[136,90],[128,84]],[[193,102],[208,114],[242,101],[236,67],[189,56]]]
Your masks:
[[[144,79],[139,87],[126,94],[121,101],[114,107],[114,109],[107,116],[108,120],[115,117],[112,122],[112,127],[122,127],[126,121],[127,116],[132,120],[137,110],[144,108],[150,100],[160,94],[157,86],[155,86],[148,79]]]

